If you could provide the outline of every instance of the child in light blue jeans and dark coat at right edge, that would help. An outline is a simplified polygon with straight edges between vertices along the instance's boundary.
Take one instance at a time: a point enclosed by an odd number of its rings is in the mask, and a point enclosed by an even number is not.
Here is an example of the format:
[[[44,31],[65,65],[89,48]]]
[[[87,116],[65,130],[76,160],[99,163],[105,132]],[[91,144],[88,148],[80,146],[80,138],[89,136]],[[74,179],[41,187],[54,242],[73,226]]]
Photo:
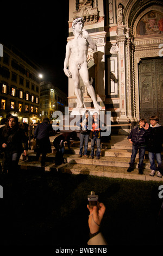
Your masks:
[[[147,150],[148,150],[148,156],[149,161],[151,163],[150,169],[151,173],[149,175],[154,176],[156,172],[156,166],[154,158],[156,158],[156,161],[158,163],[158,167],[161,165],[161,150],[162,150],[162,143],[163,143],[163,126],[158,124],[159,118],[156,115],[152,115],[152,117],[149,118],[150,120],[150,134],[148,138],[148,144],[147,144]],[[158,171],[156,173],[158,177],[162,177],[161,173]]]

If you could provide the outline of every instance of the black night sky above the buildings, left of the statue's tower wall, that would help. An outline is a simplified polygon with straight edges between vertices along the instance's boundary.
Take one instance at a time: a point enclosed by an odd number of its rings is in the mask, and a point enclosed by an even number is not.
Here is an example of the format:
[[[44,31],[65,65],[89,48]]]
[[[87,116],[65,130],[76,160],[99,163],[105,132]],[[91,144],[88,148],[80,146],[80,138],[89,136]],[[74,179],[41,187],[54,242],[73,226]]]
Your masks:
[[[43,80],[65,88],[64,59],[68,36],[68,0],[1,3],[1,43],[15,45],[42,66]]]

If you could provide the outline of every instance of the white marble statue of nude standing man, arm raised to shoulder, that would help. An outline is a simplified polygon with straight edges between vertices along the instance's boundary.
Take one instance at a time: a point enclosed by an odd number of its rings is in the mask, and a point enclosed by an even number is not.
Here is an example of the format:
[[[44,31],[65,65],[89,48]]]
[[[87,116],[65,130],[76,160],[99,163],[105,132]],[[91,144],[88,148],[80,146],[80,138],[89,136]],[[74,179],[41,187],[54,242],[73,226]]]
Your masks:
[[[93,89],[89,81],[89,72],[87,69],[87,51],[90,46],[92,51],[97,51],[96,43],[91,39],[89,33],[83,29],[84,20],[78,18],[73,21],[72,29],[74,39],[67,42],[66,56],[64,61],[64,72],[68,78],[72,78],[74,83],[74,92],[77,96],[78,107],[83,108],[82,92],[80,90],[79,78],[81,77],[87,92],[91,96],[93,105],[96,109],[101,110],[102,107],[98,105]],[[68,69],[67,69],[68,67]]]

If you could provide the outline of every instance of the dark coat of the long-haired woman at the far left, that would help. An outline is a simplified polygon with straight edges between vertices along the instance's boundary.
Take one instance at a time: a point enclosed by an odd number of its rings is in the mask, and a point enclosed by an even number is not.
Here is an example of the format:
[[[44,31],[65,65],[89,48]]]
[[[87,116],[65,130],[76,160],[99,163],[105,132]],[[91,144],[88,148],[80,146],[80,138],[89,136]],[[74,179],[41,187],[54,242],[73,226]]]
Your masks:
[[[22,153],[23,150],[28,150],[28,137],[20,127],[9,128],[5,125],[1,129],[1,149],[8,154]],[[2,148],[2,144],[7,144],[6,148]],[[23,143],[23,144],[22,144]]]

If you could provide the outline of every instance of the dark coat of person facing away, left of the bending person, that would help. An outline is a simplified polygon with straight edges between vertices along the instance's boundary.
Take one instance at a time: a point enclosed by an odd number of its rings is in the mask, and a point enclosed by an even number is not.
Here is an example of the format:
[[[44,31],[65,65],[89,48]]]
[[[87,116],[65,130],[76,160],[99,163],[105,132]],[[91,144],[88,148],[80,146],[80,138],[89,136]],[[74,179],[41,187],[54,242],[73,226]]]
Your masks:
[[[51,153],[51,142],[49,140],[49,132],[52,131],[52,125],[42,122],[36,126],[34,131],[34,138],[37,139],[38,148],[36,151],[40,153]]]

